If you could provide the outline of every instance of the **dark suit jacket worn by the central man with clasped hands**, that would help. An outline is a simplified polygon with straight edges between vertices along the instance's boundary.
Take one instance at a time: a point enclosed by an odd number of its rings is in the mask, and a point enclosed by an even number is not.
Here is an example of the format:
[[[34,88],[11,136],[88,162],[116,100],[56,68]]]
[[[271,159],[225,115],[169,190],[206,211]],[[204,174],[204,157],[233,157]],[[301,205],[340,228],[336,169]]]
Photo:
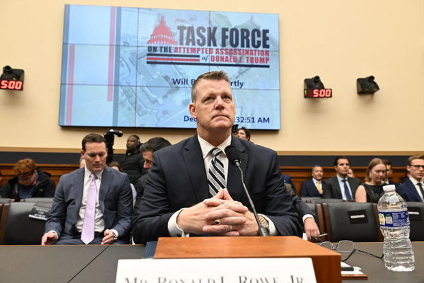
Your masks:
[[[267,215],[279,234],[300,235],[302,225],[284,187],[276,152],[238,137],[231,144],[240,152],[246,187],[258,213]],[[197,135],[154,153],[140,209],[133,218],[135,243],[170,237],[168,220],[180,208],[209,198],[207,174]],[[227,188],[230,196],[250,208],[240,180],[240,172],[228,165]]]

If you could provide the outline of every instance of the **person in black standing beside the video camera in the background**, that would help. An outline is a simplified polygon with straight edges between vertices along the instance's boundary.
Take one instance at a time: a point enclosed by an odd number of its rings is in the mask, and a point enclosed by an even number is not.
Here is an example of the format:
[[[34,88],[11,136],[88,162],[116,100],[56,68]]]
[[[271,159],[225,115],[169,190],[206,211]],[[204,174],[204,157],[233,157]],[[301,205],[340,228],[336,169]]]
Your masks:
[[[135,184],[142,175],[146,174],[144,167],[143,154],[140,152],[140,137],[130,135],[127,139],[127,152],[123,159],[119,161],[120,168],[129,176],[129,181]]]

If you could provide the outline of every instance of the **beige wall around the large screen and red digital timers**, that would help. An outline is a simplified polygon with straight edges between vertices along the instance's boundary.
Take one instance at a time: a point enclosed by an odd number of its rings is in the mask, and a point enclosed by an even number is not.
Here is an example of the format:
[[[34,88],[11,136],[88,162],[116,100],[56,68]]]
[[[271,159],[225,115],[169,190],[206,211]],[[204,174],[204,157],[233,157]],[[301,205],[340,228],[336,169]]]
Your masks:
[[[105,132],[57,125],[65,3],[278,13],[282,130],[254,131],[255,143],[286,154],[423,151],[422,0],[2,1],[0,67],[25,69],[25,90],[0,90],[0,151],[72,152],[85,133]],[[303,98],[304,78],[315,75],[333,98]],[[356,78],[369,75],[380,91],[358,96]],[[116,139],[118,149],[130,133],[172,143],[194,133],[121,130],[126,135]]]

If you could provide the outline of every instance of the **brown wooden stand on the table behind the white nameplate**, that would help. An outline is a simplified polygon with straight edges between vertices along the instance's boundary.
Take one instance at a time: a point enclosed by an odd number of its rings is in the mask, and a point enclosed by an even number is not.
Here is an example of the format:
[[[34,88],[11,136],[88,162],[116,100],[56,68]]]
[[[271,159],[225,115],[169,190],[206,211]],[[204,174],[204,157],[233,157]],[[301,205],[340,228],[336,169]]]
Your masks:
[[[155,258],[312,258],[318,283],[341,282],[339,253],[294,236],[159,238]]]

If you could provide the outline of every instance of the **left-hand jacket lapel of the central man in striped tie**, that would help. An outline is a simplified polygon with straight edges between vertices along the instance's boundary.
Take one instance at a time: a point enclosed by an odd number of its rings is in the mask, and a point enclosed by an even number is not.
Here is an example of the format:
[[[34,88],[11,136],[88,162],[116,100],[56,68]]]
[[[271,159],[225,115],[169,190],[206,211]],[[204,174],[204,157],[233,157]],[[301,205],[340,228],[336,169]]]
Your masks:
[[[209,198],[209,187],[197,135],[189,139],[184,149],[183,157],[191,180],[191,189],[198,202],[201,202],[205,198]]]

